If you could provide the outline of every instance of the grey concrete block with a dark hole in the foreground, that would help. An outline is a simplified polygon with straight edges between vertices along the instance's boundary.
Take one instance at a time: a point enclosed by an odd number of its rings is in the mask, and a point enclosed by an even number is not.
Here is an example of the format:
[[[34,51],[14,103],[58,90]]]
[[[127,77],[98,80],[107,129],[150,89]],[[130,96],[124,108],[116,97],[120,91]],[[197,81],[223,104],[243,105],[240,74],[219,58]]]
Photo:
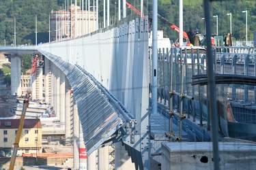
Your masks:
[[[252,169],[256,166],[255,143],[219,142],[219,148],[221,169]],[[166,142],[162,143],[161,151],[161,169],[214,169],[212,143]]]

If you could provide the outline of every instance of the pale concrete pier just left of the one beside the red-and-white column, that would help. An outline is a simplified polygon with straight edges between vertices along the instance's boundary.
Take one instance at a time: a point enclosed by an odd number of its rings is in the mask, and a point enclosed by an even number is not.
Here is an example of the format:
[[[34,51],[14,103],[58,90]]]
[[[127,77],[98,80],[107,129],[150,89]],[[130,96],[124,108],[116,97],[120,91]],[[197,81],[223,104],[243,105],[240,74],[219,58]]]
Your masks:
[[[71,127],[70,127],[70,115],[71,115],[71,109],[70,109],[70,102],[71,102],[71,95],[70,95],[70,84],[68,82],[68,79],[65,77],[65,139],[66,144],[71,143]]]

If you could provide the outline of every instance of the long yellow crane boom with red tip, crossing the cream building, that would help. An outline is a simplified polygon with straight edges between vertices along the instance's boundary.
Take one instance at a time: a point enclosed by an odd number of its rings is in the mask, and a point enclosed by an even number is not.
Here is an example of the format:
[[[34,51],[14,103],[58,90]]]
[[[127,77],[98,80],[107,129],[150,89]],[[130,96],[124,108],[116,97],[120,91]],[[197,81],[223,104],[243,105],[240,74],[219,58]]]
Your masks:
[[[20,136],[23,131],[23,124],[24,124],[24,120],[27,112],[27,107],[29,107],[29,100],[31,97],[31,86],[32,86],[34,75],[35,75],[35,69],[37,67],[37,60],[38,60],[38,55],[35,55],[35,58],[33,58],[32,68],[31,68],[31,80],[29,82],[29,87],[27,88],[27,92],[23,100],[23,111],[20,116],[20,124],[18,125],[18,131],[15,138],[14,149],[12,151],[9,170],[14,169],[15,160],[16,160],[18,147],[19,147],[18,144],[20,143]]]

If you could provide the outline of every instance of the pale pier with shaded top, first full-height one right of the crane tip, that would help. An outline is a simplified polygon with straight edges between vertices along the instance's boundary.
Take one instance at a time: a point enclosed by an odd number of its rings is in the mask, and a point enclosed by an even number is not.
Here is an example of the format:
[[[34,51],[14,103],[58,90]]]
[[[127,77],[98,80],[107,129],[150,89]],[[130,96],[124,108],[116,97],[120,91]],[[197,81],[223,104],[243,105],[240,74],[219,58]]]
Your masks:
[[[44,95],[45,102],[51,104],[51,61],[48,58],[44,58]]]

